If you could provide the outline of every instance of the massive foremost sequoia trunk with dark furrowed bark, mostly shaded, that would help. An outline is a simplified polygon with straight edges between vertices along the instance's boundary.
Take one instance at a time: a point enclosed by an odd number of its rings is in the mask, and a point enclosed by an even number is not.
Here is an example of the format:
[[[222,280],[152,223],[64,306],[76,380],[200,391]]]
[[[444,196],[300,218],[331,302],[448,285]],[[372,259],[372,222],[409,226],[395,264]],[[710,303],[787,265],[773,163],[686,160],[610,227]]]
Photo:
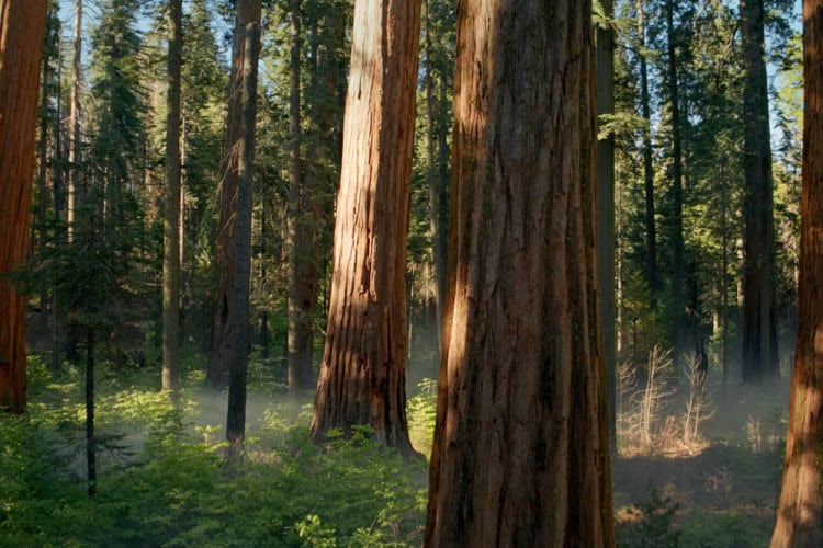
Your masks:
[[[590,12],[458,4],[426,546],[613,544]]]

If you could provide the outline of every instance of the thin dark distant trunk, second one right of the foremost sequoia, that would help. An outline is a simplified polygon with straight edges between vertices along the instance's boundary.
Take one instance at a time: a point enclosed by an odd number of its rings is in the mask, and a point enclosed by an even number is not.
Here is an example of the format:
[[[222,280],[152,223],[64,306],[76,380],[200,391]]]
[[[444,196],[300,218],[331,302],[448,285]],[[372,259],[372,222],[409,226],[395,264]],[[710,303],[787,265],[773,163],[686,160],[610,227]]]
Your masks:
[[[638,0],[638,41],[645,49],[645,14],[643,0]],[[650,305],[657,305],[657,224],[654,219],[654,165],[652,164],[652,109],[649,95],[649,62],[646,52],[640,53],[640,103],[649,127],[643,130],[643,178],[645,189],[646,225],[646,283],[649,283]]]

